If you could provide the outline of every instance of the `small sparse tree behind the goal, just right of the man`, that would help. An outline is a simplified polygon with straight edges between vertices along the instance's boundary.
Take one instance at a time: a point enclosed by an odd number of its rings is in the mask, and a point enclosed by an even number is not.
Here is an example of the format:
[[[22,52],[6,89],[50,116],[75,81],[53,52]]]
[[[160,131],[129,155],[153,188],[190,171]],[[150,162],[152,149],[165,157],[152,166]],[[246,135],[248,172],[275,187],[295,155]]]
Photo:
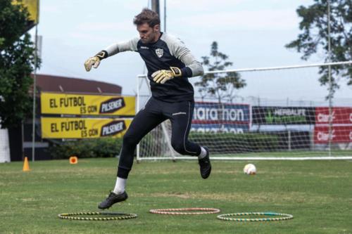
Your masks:
[[[210,57],[201,57],[203,66],[208,71],[225,70],[226,67],[232,65],[229,62],[228,56],[218,51],[218,42],[213,41],[210,48]],[[244,79],[241,79],[237,72],[225,72],[225,73],[214,73],[204,74],[201,77],[200,82],[196,82],[195,86],[199,86],[199,93],[201,97],[207,96],[215,97],[218,102],[221,103],[223,99],[227,99],[230,102],[236,97],[236,90],[246,86]]]

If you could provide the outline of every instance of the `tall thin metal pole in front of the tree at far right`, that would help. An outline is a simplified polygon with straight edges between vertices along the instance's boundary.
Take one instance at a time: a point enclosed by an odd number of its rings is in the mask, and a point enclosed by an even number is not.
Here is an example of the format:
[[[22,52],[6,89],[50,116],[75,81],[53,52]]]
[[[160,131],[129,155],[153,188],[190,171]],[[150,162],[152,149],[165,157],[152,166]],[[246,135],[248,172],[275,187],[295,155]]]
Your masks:
[[[327,60],[331,63],[331,39],[330,39],[330,1],[327,0]],[[329,157],[332,156],[332,77],[331,65],[328,66],[328,79],[329,79]]]

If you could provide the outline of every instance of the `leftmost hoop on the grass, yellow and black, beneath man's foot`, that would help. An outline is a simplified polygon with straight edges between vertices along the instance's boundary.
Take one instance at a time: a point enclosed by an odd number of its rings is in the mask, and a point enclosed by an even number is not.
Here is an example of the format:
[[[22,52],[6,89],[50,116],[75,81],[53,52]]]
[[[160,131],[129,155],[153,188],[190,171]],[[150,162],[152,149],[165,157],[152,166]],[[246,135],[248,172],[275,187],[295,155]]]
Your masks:
[[[80,215],[106,215],[109,217],[79,217]],[[135,219],[137,214],[125,214],[116,212],[78,212],[78,213],[64,213],[58,214],[59,219],[73,219],[73,220],[85,220],[85,221],[108,221],[108,220],[120,220],[120,219]]]

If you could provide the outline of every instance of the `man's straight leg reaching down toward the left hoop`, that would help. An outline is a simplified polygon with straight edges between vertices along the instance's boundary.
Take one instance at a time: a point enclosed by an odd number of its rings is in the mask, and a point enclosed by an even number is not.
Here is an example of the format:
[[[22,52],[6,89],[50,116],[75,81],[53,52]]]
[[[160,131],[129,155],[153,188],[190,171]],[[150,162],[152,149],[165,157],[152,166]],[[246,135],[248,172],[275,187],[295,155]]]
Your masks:
[[[125,192],[125,184],[128,174],[132,169],[134,150],[139,141],[141,141],[149,131],[166,119],[156,108],[157,106],[151,99],[147,103],[146,108],[140,110],[132,120],[130,127],[123,137],[115,188],[113,192],[108,195],[106,200],[99,204],[99,209],[107,209],[116,202],[122,202],[127,199],[128,196]]]

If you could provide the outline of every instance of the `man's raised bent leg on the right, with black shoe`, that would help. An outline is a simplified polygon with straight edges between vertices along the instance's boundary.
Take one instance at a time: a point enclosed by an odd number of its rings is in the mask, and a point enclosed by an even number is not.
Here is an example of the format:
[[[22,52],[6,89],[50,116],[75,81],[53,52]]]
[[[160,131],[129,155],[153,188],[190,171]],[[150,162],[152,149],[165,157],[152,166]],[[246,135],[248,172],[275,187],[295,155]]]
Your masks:
[[[198,156],[201,177],[208,178],[211,171],[208,148],[201,147],[188,140],[194,111],[194,102],[170,103],[170,107],[171,108],[166,109],[166,115],[170,116],[172,124],[172,148],[182,155]]]

